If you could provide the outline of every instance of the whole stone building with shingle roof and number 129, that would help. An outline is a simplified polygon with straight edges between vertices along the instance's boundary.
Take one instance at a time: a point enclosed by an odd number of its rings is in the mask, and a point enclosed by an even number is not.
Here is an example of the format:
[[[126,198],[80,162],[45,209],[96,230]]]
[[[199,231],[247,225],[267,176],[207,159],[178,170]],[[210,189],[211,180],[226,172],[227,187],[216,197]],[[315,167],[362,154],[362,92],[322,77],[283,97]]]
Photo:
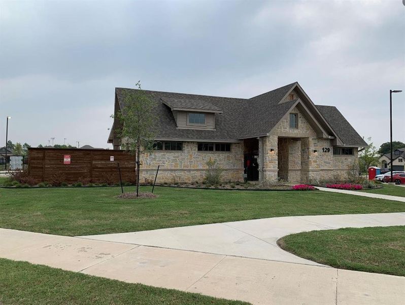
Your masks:
[[[128,88],[115,89],[115,114]],[[155,150],[141,174],[159,181],[201,181],[216,160],[223,179],[310,179],[344,174],[366,143],[333,106],[315,105],[297,83],[250,99],[145,92],[156,102]],[[117,117],[117,115],[115,115]],[[108,143],[119,149],[115,119]]]

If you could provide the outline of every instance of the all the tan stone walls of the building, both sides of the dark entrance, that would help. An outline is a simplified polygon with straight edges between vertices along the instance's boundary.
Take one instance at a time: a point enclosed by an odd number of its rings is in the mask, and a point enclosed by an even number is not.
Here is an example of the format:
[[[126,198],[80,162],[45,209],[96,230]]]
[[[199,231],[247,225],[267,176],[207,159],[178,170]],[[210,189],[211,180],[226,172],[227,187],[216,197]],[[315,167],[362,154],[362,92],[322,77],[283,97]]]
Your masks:
[[[333,155],[330,139],[318,138],[312,126],[297,108],[297,128],[290,128],[289,113],[266,137],[259,141],[259,180],[285,179],[296,183],[308,183],[312,179],[333,178],[346,174],[349,166],[357,160],[357,148],[353,155]],[[195,182],[203,181],[207,161],[216,160],[224,169],[224,181],[243,181],[244,143],[232,143],[231,151],[198,151],[197,142],[183,142],[183,150],[155,150],[142,156],[141,182],[155,177],[157,181]],[[280,162],[283,162],[282,164]],[[280,163],[280,164],[279,164]]]

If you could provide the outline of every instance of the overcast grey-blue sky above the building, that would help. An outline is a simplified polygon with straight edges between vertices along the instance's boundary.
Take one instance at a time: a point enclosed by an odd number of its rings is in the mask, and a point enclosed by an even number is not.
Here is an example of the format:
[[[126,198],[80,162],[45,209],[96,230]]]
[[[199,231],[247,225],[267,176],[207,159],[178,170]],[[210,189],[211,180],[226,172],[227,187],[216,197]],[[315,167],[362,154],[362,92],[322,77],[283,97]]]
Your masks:
[[[367,2],[0,1],[0,146],[107,144],[114,88],[250,98],[298,81],[376,146],[405,90],[405,6]],[[393,96],[405,142],[405,93]]]

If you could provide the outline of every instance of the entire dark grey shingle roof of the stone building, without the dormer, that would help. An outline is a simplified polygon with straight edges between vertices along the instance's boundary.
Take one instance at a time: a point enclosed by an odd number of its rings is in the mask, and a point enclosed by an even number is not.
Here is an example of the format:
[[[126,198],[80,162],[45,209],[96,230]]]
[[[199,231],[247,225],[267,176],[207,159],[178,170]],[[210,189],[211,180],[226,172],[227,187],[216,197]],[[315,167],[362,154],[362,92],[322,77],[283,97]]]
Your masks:
[[[156,102],[153,114],[159,119],[155,126],[156,139],[238,141],[266,135],[297,100],[280,103],[296,85],[291,83],[251,99],[225,98],[194,94],[144,90]],[[116,88],[121,109],[128,88]],[[167,106],[170,105],[170,106]],[[175,106],[176,105],[176,106]],[[221,110],[215,114],[215,130],[178,129],[171,108]],[[200,108],[197,108],[200,107]],[[348,145],[364,146],[365,142],[335,107],[319,106],[329,125]],[[323,111],[322,111],[323,110]],[[325,114],[323,113],[325,112]],[[347,133],[345,135],[345,133]],[[346,144],[346,141],[345,144]],[[356,145],[355,145],[356,144]]]

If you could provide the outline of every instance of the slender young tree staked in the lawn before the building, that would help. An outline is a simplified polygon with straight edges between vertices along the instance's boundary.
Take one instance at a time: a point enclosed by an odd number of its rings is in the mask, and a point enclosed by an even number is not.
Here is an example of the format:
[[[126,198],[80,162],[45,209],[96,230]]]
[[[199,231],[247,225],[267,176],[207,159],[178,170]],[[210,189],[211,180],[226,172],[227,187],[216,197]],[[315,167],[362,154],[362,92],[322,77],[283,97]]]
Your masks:
[[[156,103],[136,83],[137,90],[128,89],[124,93],[124,107],[116,117],[120,122],[117,133],[122,145],[137,158],[137,196],[139,194],[140,156],[153,150],[156,116],[153,108]],[[114,117],[114,115],[112,116]]]

